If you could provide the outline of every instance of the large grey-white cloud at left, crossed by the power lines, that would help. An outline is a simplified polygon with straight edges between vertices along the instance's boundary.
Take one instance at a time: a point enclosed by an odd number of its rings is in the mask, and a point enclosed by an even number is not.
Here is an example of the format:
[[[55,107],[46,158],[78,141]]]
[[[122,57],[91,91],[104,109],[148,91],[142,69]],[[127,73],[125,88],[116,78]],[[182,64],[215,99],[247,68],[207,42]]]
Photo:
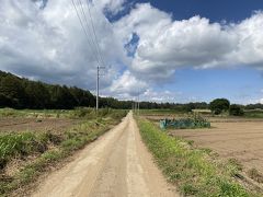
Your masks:
[[[81,14],[81,4],[75,2]],[[89,20],[87,3],[81,2]],[[0,0],[0,4],[1,70],[94,90],[98,61],[91,26],[88,42],[71,1],[49,0],[43,9],[41,1],[31,0]],[[103,10],[91,4],[91,14],[107,67],[101,83],[106,88],[129,59]]]

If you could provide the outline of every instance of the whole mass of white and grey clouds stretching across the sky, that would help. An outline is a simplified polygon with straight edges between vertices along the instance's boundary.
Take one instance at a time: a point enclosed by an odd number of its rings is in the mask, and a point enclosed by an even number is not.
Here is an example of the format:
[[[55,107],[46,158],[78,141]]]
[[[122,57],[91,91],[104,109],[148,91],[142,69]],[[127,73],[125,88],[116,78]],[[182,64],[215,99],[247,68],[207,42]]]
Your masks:
[[[85,1],[76,1],[78,9]],[[78,3],[81,2],[81,3]],[[249,66],[263,69],[263,12],[239,23],[210,23],[195,15],[182,21],[149,3],[136,4],[111,23],[125,0],[91,3],[103,59],[105,94],[152,97],[176,69]],[[70,1],[0,0],[0,69],[35,80],[94,90],[98,61]],[[134,37],[138,37],[136,40]],[[127,47],[128,46],[128,47]],[[169,94],[168,94],[169,95]]]

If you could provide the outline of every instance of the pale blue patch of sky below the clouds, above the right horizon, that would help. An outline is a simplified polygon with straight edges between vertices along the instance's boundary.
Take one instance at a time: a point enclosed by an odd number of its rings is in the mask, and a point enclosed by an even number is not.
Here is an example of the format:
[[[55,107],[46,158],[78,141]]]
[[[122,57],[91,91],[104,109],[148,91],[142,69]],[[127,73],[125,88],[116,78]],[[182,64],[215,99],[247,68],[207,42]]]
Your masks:
[[[157,89],[183,93],[179,102],[205,101],[227,97],[235,103],[253,103],[262,96],[262,74],[255,69],[180,69],[174,74],[173,83]]]

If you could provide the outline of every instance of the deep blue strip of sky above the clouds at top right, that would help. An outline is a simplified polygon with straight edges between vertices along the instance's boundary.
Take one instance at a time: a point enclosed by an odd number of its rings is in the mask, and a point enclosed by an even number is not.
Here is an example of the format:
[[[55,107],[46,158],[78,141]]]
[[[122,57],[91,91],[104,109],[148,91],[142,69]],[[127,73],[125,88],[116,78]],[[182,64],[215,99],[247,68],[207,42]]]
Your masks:
[[[253,11],[263,9],[263,2],[259,0],[136,0],[135,2],[150,2],[153,7],[172,13],[176,20],[201,15],[211,22],[241,21],[249,18]]]

